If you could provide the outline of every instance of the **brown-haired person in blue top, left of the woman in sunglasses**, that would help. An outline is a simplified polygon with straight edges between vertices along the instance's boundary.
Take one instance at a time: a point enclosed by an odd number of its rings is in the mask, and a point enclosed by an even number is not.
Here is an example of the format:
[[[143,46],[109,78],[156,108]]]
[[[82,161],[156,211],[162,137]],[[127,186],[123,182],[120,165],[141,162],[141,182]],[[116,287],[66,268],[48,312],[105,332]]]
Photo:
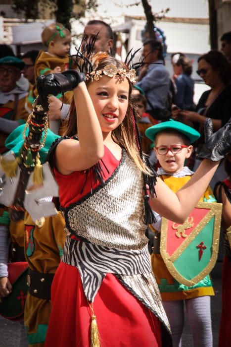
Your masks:
[[[175,62],[174,70],[177,72],[177,77],[175,78],[177,87],[177,93],[174,99],[175,105],[179,109],[193,111],[195,109],[193,103],[194,81],[191,78],[192,63],[190,59],[180,56]]]

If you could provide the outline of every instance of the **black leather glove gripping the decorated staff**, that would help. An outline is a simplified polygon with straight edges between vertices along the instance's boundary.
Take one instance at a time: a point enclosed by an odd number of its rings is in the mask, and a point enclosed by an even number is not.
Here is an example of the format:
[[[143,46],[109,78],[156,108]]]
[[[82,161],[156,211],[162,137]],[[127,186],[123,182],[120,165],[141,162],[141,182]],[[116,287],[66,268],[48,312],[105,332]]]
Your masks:
[[[46,76],[39,76],[36,87],[39,95],[57,95],[73,90],[82,81],[85,81],[84,73],[76,70],[67,70],[62,73],[49,73]]]

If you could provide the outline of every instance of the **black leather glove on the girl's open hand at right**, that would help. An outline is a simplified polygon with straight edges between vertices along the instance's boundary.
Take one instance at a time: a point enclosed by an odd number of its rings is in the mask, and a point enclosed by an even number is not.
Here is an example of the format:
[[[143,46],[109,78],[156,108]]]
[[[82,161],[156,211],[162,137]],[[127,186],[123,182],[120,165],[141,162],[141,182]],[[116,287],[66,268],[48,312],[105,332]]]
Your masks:
[[[207,158],[217,162],[225,157],[231,150],[231,118],[218,131],[213,133],[213,123],[210,118],[205,120],[205,144],[203,145],[199,158]]]

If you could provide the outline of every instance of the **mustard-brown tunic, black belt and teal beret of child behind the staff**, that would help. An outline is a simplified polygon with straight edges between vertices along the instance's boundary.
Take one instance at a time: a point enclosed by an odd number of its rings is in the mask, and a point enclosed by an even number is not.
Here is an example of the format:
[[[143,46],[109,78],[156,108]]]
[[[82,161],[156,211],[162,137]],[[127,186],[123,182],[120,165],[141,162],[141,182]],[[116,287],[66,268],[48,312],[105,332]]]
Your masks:
[[[23,144],[23,128],[24,126],[19,126],[6,140],[6,147],[16,156]],[[57,136],[48,129],[45,147],[40,150],[42,162],[55,138]],[[46,200],[51,200],[51,197],[47,197]],[[14,248],[16,243],[24,250],[29,266],[28,293],[24,309],[24,326],[28,345],[43,347],[51,311],[50,287],[66,238],[64,219],[59,212],[55,216],[41,218],[34,222],[26,212],[24,220],[10,222],[10,235],[14,241]]]

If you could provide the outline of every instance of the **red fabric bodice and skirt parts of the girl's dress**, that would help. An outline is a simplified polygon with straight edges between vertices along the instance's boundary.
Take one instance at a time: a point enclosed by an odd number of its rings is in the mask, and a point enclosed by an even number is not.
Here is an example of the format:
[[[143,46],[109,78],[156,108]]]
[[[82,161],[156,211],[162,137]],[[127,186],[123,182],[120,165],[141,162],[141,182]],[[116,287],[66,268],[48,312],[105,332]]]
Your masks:
[[[105,147],[104,179],[107,180],[119,161]],[[83,199],[99,184],[85,181],[83,172],[62,175],[54,169],[60,185],[60,204],[68,207]],[[83,184],[84,193],[83,193]],[[71,236],[77,239],[75,236]],[[85,295],[79,270],[61,262],[51,288],[52,311],[46,335],[46,347],[88,347],[90,342],[92,311]],[[100,346],[171,346],[161,337],[161,322],[132,292],[111,273],[104,277],[93,301]]]

